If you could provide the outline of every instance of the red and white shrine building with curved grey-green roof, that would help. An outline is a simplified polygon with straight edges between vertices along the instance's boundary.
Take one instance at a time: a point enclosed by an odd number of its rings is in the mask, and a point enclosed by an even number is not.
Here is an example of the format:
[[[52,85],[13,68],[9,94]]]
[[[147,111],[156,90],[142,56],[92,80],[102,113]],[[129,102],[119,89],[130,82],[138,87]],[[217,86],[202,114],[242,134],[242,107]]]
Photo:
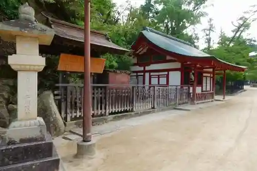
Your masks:
[[[148,27],[140,32],[132,50],[131,84],[189,86],[193,104],[214,100],[216,74],[223,74],[225,99],[226,70],[244,72],[247,69]]]

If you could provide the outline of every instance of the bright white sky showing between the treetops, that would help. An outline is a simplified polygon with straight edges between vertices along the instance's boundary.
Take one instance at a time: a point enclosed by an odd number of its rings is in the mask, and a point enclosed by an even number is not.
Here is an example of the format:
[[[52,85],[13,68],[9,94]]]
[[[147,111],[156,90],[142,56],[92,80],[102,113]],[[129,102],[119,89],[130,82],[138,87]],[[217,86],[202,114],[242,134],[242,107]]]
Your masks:
[[[127,4],[126,0],[114,0],[114,2],[118,6],[125,6]],[[140,6],[143,3],[144,0],[131,0],[133,6]],[[201,30],[208,27],[208,18],[212,18],[216,28],[216,32],[212,34],[212,40],[216,43],[221,28],[226,34],[232,35],[231,30],[233,29],[233,25],[231,22],[235,22],[238,17],[242,16],[244,11],[247,11],[250,6],[255,4],[257,4],[256,0],[209,0],[207,8],[204,9],[209,15],[201,20],[201,24],[195,26],[196,32],[199,34],[199,37],[203,37],[204,33]],[[247,33],[249,34],[247,37],[255,37],[257,39],[257,21],[252,23]],[[204,48],[206,46],[204,39],[200,39],[198,45],[200,48]]]

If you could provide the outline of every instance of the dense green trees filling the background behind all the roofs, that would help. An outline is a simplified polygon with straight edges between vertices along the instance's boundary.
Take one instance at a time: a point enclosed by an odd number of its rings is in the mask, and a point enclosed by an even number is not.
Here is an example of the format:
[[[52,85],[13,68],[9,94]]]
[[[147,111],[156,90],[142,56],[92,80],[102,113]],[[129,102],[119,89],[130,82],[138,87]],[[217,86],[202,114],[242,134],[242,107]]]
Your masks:
[[[54,18],[83,26],[84,0],[1,0],[0,20],[11,20],[17,17],[17,9],[28,2],[35,9],[35,15],[40,22],[40,13],[45,11]],[[207,0],[145,0],[140,7],[134,7],[127,2],[126,6],[117,7],[112,0],[91,0],[91,29],[107,32],[111,40],[127,49],[136,40],[143,26],[149,26],[166,34],[172,35],[196,46],[199,39],[205,39],[206,47],[201,49],[215,55],[224,61],[247,66],[245,73],[227,72],[227,81],[257,80],[257,60],[249,58],[249,53],[257,51],[256,40],[245,37],[251,27],[257,8],[250,6],[236,23],[232,36],[222,30],[216,30],[212,18],[204,30],[204,37],[199,37],[194,26],[200,24],[202,17],[208,17],[204,12]],[[214,4],[215,5],[215,4]],[[189,30],[191,30],[189,32]],[[213,42],[212,34],[219,32],[218,42]],[[197,46],[196,46],[197,47]],[[117,69],[120,57],[105,54],[106,68]],[[130,59],[121,58],[130,65]]]

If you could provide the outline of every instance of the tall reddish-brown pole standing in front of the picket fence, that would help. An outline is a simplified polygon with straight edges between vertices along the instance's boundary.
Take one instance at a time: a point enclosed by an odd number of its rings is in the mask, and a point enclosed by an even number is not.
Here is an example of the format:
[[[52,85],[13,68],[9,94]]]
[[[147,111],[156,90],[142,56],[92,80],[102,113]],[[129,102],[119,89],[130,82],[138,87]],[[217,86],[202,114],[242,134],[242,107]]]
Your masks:
[[[90,142],[91,135],[91,89],[90,89],[90,2],[84,1],[84,99],[83,99],[83,141]]]

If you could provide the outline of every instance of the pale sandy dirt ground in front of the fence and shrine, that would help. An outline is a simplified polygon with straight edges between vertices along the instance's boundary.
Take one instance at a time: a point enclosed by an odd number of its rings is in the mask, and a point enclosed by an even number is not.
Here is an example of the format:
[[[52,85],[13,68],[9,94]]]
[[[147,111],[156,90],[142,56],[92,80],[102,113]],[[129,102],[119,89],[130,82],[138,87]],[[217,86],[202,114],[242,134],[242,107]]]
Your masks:
[[[257,170],[257,89],[96,139],[93,159],[74,159],[76,142],[57,145],[66,170]]]

